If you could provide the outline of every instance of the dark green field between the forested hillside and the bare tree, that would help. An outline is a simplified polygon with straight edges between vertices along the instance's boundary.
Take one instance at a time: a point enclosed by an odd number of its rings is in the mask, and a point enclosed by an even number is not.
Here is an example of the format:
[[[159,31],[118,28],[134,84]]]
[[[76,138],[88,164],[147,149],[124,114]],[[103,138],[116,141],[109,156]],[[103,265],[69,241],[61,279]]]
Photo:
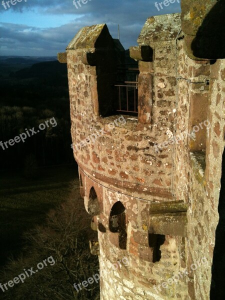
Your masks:
[[[21,251],[22,234],[43,224],[46,213],[66,200],[72,180],[79,184],[75,164],[40,168],[35,180],[19,172],[0,173],[0,266]]]

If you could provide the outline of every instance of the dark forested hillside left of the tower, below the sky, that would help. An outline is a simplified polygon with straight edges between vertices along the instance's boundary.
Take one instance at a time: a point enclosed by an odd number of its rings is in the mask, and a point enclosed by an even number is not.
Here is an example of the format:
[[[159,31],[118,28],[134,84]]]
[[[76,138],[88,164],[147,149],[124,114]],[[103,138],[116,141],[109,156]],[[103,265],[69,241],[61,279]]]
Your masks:
[[[0,146],[1,169],[73,161],[66,64],[53,58],[32,64],[39,59],[0,59],[0,141],[13,139],[25,129],[37,128],[52,117],[57,125],[39,130],[8,148]]]

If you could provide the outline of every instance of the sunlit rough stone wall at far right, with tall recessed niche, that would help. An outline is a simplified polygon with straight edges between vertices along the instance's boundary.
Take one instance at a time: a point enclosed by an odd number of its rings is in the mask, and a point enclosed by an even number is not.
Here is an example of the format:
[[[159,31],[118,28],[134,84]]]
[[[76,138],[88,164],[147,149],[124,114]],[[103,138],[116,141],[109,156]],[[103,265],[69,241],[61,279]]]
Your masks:
[[[192,142],[189,137],[175,144],[174,156],[176,197],[184,199],[188,205],[187,269],[190,271],[190,265],[203,256],[207,257],[208,261],[207,268],[203,266],[197,268],[194,273],[190,272],[187,281],[189,296],[191,299],[209,299],[211,263],[218,222],[221,158],[224,148],[224,80],[221,78],[224,61],[217,60],[212,64],[210,61],[193,61],[183,51],[183,39],[177,43],[178,75],[190,79],[191,82],[205,82],[209,79],[209,86],[206,83],[191,83],[184,79],[178,81],[176,130],[179,132],[188,130],[191,133],[193,127],[190,126],[191,104],[195,104],[195,113],[198,114],[196,125],[205,119],[201,107],[207,105],[206,118],[211,127],[204,132],[206,148],[191,152]],[[203,155],[206,165],[200,163],[199,154]]]

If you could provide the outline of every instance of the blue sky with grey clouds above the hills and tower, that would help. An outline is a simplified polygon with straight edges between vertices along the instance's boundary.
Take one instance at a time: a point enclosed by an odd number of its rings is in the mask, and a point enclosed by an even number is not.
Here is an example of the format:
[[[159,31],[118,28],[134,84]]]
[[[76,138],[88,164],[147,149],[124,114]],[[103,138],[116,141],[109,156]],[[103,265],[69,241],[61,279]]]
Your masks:
[[[102,23],[113,38],[118,38],[119,24],[127,49],[137,44],[147,17],[180,12],[179,0],[166,0],[167,6],[161,2],[162,9],[155,0],[82,0],[81,7],[75,0],[10,1],[3,5],[0,0],[0,55],[56,56],[80,28]]]

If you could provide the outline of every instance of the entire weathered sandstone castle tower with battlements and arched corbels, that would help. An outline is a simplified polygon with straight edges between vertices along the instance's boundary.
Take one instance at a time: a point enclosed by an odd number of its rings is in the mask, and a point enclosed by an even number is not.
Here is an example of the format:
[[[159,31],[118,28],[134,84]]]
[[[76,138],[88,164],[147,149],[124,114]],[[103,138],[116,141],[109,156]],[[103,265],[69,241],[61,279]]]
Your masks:
[[[122,47],[105,24],[83,27],[58,54],[102,300],[209,299],[225,95],[224,38],[213,22],[224,4],[183,0],[181,9],[149,17],[129,50],[136,114],[116,110]]]

